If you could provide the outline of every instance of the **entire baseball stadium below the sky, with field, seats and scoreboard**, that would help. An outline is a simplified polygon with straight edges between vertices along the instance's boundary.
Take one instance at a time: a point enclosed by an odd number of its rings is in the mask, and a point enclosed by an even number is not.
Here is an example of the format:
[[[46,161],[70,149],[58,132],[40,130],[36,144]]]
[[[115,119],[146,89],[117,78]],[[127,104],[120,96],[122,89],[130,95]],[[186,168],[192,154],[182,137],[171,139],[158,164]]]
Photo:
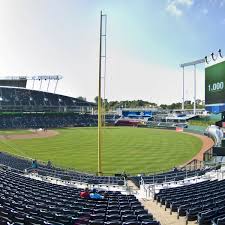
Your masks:
[[[62,94],[59,74],[0,76],[0,225],[224,225],[222,50],[179,65],[181,108],[109,110],[106,27],[101,12],[95,102]]]

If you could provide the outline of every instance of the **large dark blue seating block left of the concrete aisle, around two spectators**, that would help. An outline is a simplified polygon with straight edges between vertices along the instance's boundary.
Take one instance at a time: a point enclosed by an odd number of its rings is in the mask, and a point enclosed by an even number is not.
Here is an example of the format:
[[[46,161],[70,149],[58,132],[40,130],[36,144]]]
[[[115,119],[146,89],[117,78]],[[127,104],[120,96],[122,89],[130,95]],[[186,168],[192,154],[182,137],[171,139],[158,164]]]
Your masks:
[[[159,225],[134,195],[99,191],[104,199],[83,199],[81,189],[0,170],[0,224]]]

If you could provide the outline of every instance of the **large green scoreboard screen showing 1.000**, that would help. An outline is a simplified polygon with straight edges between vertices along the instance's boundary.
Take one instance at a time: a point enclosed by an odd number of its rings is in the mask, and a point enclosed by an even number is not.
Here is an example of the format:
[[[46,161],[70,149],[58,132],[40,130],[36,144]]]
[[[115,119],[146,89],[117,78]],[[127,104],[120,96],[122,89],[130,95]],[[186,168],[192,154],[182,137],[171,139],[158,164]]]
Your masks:
[[[205,106],[212,113],[225,111],[225,61],[205,68]]]

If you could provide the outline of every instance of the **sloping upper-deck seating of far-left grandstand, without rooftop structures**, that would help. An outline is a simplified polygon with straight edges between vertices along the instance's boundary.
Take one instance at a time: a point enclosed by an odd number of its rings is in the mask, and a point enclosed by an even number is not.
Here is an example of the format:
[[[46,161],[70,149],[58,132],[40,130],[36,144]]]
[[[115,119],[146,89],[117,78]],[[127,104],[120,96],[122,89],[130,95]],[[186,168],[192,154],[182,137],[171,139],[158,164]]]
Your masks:
[[[90,112],[94,103],[55,93],[18,87],[0,87],[4,112]]]

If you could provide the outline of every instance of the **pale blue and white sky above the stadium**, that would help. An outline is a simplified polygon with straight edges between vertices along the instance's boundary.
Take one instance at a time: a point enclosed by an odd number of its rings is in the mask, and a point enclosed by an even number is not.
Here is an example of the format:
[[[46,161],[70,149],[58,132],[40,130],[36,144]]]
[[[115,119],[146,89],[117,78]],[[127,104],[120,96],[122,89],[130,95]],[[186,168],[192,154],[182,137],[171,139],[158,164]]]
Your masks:
[[[109,100],[181,101],[179,64],[219,48],[225,54],[225,0],[0,0],[0,76],[61,74],[58,93],[93,101],[100,10],[108,16]],[[197,98],[204,99],[204,65]]]

